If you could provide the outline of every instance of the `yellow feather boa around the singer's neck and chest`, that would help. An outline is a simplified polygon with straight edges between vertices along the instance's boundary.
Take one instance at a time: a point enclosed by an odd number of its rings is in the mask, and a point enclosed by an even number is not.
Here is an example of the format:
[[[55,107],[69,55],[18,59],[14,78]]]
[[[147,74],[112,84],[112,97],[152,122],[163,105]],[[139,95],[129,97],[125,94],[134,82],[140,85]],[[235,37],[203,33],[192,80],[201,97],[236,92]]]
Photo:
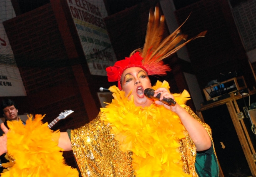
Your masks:
[[[152,88],[156,90],[158,87],[170,88],[166,81],[158,81]],[[137,107],[133,96],[129,100],[125,92],[116,86],[109,90],[113,92],[114,99],[101,108],[101,119],[112,127],[120,149],[133,152],[136,177],[189,176],[182,171],[183,162],[178,148],[180,140],[185,138],[185,128],[176,113],[156,104]],[[186,90],[173,95],[182,107],[190,96]]]

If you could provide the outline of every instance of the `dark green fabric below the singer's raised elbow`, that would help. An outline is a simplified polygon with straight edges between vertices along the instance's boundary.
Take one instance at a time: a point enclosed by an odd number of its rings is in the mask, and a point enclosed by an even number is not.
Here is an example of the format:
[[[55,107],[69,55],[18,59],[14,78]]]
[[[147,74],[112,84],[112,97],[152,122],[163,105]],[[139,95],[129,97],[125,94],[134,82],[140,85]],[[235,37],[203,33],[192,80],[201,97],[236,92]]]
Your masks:
[[[218,161],[213,145],[206,151],[196,153],[195,167],[199,177],[218,177]]]

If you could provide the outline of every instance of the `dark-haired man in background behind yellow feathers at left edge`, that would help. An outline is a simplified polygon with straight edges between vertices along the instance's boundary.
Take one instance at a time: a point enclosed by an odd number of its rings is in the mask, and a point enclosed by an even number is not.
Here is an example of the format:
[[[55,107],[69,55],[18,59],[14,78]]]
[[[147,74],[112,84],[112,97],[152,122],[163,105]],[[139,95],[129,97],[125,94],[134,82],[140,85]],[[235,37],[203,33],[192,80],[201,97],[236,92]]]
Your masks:
[[[5,99],[0,103],[0,112],[5,117],[5,126],[8,128],[7,121],[18,121],[20,117],[18,117],[18,107],[13,100]],[[22,121],[22,120],[21,120]],[[23,122],[23,121],[22,121]],[[25,122],[23,122],[25,125]],[[9,129],[9,128],[8,128]],[[0,136],[3,136],[4,132],[0,129]],[[8,160],[5,159],[5,154],[0,156],[0,173],[3,172],[4,168],[2,167],[2,163],[6,163]]]

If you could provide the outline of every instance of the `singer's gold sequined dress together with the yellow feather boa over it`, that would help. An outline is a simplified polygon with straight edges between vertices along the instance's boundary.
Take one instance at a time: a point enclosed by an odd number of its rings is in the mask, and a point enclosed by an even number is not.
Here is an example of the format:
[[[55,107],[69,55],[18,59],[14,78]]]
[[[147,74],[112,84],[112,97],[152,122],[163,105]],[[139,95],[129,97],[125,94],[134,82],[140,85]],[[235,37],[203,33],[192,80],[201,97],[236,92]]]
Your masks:
[[[154,87],[166,87],[157,82]],[[71,130],[83,177],[197,177],[196,147],[179,117],[162,105],[137,107],[133,97],[112,86],[114,99],[90,123]],[[173,94],[211,136],[210,127],[185,105],[188,92]]]

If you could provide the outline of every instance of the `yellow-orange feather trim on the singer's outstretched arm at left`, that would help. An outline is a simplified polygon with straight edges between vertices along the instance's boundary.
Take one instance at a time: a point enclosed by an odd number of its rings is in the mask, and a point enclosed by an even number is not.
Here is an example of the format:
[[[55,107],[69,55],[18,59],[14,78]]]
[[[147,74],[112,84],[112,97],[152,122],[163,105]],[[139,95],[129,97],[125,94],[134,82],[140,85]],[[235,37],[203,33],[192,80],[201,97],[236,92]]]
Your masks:
[[[63,151],[58,147],[60,132],[42,124],[42,115],[32,116],[23,125],[8,121],[7,150],[10,162],[1,177],[78,177],[78,171],[65,165]],[[13,159],[13,162],[12,162]]]

